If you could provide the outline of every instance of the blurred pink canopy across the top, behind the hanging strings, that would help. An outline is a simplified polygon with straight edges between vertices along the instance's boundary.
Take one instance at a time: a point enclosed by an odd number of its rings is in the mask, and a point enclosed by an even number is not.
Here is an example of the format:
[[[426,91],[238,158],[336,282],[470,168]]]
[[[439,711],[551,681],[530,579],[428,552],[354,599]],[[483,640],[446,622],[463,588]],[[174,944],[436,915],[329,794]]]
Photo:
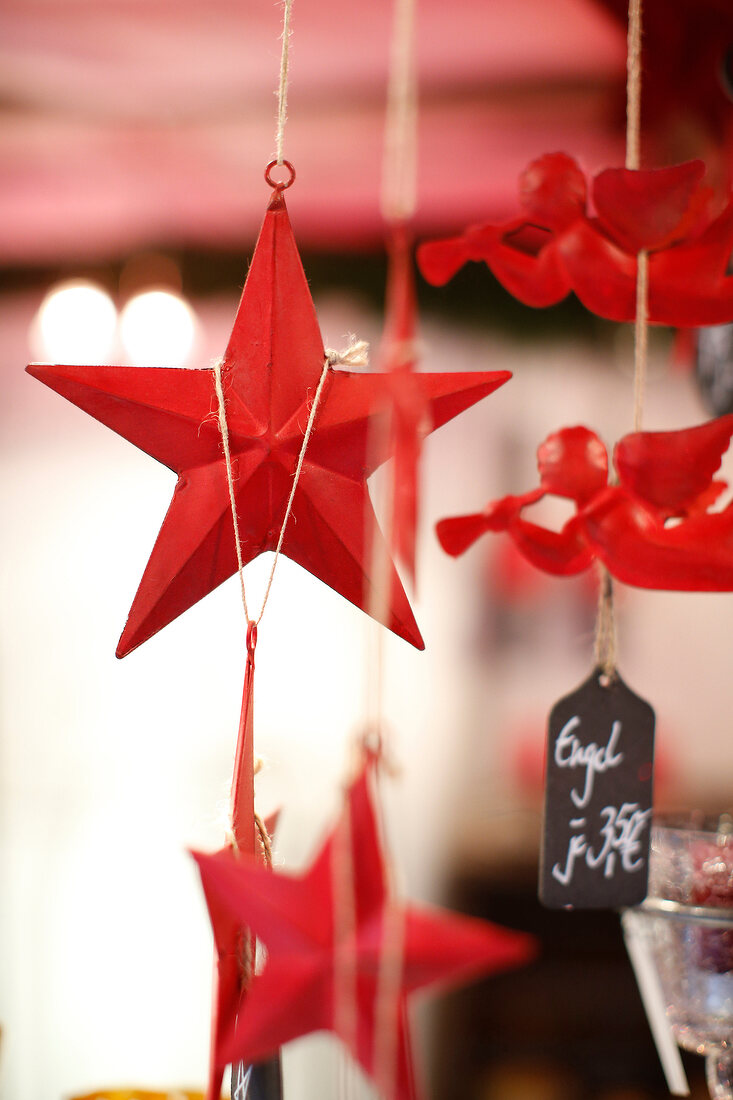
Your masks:
[[[373,243],[391,0],[295,0],[299,239]],[[272,0],[3,0],[0,261],[237,246],[274,144]],[[420,0],[419,223],[500,216],[532,157],[619,163],[623,28],[593,0]],[[616,120],[617,122],[617,120]]]

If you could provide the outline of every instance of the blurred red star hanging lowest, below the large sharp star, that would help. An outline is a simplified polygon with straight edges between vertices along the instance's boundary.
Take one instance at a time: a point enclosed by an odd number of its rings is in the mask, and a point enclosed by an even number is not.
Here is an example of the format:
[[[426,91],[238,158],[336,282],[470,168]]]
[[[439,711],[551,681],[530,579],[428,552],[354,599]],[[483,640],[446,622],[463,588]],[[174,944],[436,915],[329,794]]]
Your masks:
[[[517,966],[534,954],[529,936],[390,898],[384,855],[365,769],[349,791],[339,823],[302,876],[272,873],[222,851],[196,854],[217,945],[226,948],[232,914],[262,939],[266,960],[253,978],[219,1059],[258,1062],[283,1043],[332,1031],[387,1100],[417,1096],[407,1000],[435,983],[458,983]],[[391,1004],[393,1070],[380,1075],[383,1002],[380,960],[389,930],[400,931]]]

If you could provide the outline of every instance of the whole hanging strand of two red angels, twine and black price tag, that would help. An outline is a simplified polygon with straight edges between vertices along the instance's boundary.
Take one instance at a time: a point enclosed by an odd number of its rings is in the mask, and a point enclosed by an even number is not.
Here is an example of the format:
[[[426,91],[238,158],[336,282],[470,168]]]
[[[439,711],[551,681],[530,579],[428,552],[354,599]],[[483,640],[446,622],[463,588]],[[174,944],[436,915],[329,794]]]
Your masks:
[[[634,431],[614,450],[617,476],[609,477],[608,452],[594,432],[565,428],[538,449],[538,488],[437,528],[451,554],[484,531],[505,531],[548,573],[598,565],[595,667],[556,705],[547,736],[539,894],[553,906],[612,908],[646,893],[655,719],[619,675],[612,578],[650,588],[733,591],[733,506],[710,510],[725,487],[713,475],[733,418],[642,431],[648,323],[733,317],[733,201],[711,221],[701,162],[641,169],[642,0],[630,0],[627,43],[626,164],[594,177],[594,215],[579,166],[550,154],[522,177],[517,219],[419,251],[435,283],[469,258],[484,260],[527,305],[549,306],[575,290],[602,317],[635,322]],[[575,505],[560,530],[523,515],[548,495]],[[603,790],[602,806],[594,789]]]

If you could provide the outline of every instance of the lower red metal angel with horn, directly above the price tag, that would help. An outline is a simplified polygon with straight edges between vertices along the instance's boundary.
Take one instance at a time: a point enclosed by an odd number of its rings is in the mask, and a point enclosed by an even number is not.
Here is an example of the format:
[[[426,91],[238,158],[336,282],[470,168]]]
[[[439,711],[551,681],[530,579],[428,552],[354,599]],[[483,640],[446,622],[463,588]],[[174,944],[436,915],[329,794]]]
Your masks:
[[[539,488],[440,520],[440,544],[458,556],[484,531],[506,531],[528,561],[558,576],[599,559],[613,576],[642,588],[733,591],[733,504],[710,510],[726,487],[713,474],[731,435],[733,415],[697,428],[624,436],[613,455],[619,483],[609,484],[598,436],[564,428],[537,451]],[[522,515],[548,494],[576,506],[559,531]]]

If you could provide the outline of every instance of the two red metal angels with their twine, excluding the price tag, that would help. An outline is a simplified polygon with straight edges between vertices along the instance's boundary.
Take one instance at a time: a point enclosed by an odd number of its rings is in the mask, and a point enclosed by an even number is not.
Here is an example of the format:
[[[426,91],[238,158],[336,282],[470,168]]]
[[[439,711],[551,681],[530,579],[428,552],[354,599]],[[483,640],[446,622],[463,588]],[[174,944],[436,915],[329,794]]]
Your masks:
[[[565,428],[538,449],[539,488],[438,524],[440,542],[451,554],[491,530],[506,531],[528,561],[556,575],[582,572],[598,561],[601,635],[613,617],[609,573],[642,587],[733,587],[733,510],[710,510],[725,487],[713,474],[729,446],[731,420],[641,431],[648,322],[733,318],[733,276],[727,275],[733,201],[711,222],[701,162],[639,168],[641,0],[631,0],[628,8],[627,73],[626,166],[594,177],[595,216],[588,213],[588,186],[576,162],[550,154],[522,178],[519,218],[425,244],[418,254],[424,274],[436,283],[450,278],[468,258],[485,260],[527,305],[551,305],[572,289],[601,316],[635,321],[635,430],[615,448],[617,481],[609,484],[608,454],[598,436]],[[523,517],[547,494],[576,505],[559,531]]]

